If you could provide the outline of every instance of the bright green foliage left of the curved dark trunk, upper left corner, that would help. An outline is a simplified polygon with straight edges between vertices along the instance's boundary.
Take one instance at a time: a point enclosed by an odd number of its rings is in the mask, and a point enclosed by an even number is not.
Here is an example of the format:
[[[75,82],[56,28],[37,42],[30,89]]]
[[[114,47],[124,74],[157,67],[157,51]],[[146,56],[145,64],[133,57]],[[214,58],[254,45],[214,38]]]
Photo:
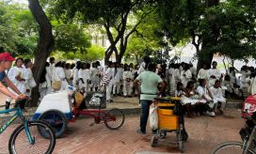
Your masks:
[[[0,2],[0,46],[14,55],[32,57],[38,40],[30,11],[18,4]]]

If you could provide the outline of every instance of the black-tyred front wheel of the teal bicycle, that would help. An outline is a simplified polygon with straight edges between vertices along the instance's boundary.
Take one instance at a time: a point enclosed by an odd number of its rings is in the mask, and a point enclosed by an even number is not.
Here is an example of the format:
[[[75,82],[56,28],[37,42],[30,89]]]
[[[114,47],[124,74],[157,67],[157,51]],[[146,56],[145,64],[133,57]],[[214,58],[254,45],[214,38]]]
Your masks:
[[[48,133],[49,139],[40,135],[40,130]],[[34,142],[31,144],[25,131],[24,124],[15,129],[8,141],[8,150],[10,154],[19,153],[45,153],[50,154],[56,146],[56,136],[52,128],[43,121],[28,121],[28,131]]]

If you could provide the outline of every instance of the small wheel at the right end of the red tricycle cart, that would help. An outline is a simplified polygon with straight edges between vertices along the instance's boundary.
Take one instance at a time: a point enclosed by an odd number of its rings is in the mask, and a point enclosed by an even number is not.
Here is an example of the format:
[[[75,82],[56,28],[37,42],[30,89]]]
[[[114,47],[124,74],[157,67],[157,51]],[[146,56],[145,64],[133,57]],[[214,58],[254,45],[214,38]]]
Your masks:
[[[120,109],[111,109],[104,115],[104,125],[110,130],[118,130],[123,125],[124,118]]]

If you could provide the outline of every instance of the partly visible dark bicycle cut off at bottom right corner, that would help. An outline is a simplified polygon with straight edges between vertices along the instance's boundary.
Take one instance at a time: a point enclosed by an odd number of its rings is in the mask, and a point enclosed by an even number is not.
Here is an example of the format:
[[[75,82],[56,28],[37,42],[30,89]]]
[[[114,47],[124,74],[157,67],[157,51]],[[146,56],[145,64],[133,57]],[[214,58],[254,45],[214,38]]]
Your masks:
[[[256,125],[252,119],[247,120],[247,128],[239,132],[243,142],[230,141],[216,146],[211,154],[256,154]]]

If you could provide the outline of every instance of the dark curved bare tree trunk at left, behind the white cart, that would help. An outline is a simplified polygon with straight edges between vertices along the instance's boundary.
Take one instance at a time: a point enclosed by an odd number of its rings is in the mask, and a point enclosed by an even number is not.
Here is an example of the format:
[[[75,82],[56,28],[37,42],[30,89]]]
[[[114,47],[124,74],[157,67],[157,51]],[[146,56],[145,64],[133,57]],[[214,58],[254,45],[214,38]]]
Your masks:
[[[52,33],[52,25],[47,19],[47,16],[45,15],[42,8],[40,7],[39,0],[28,0],[28,2],[29,9],[33,17],[35,18],[37,23],[39,23],[40,32],[40,39],[35,55],[35,64],[32,69],[37,86],[32,89],[31,93],[32,106],[37,106],[39,100],[40,75],[44,68],[47,57],[53,51],[55,39]]]

